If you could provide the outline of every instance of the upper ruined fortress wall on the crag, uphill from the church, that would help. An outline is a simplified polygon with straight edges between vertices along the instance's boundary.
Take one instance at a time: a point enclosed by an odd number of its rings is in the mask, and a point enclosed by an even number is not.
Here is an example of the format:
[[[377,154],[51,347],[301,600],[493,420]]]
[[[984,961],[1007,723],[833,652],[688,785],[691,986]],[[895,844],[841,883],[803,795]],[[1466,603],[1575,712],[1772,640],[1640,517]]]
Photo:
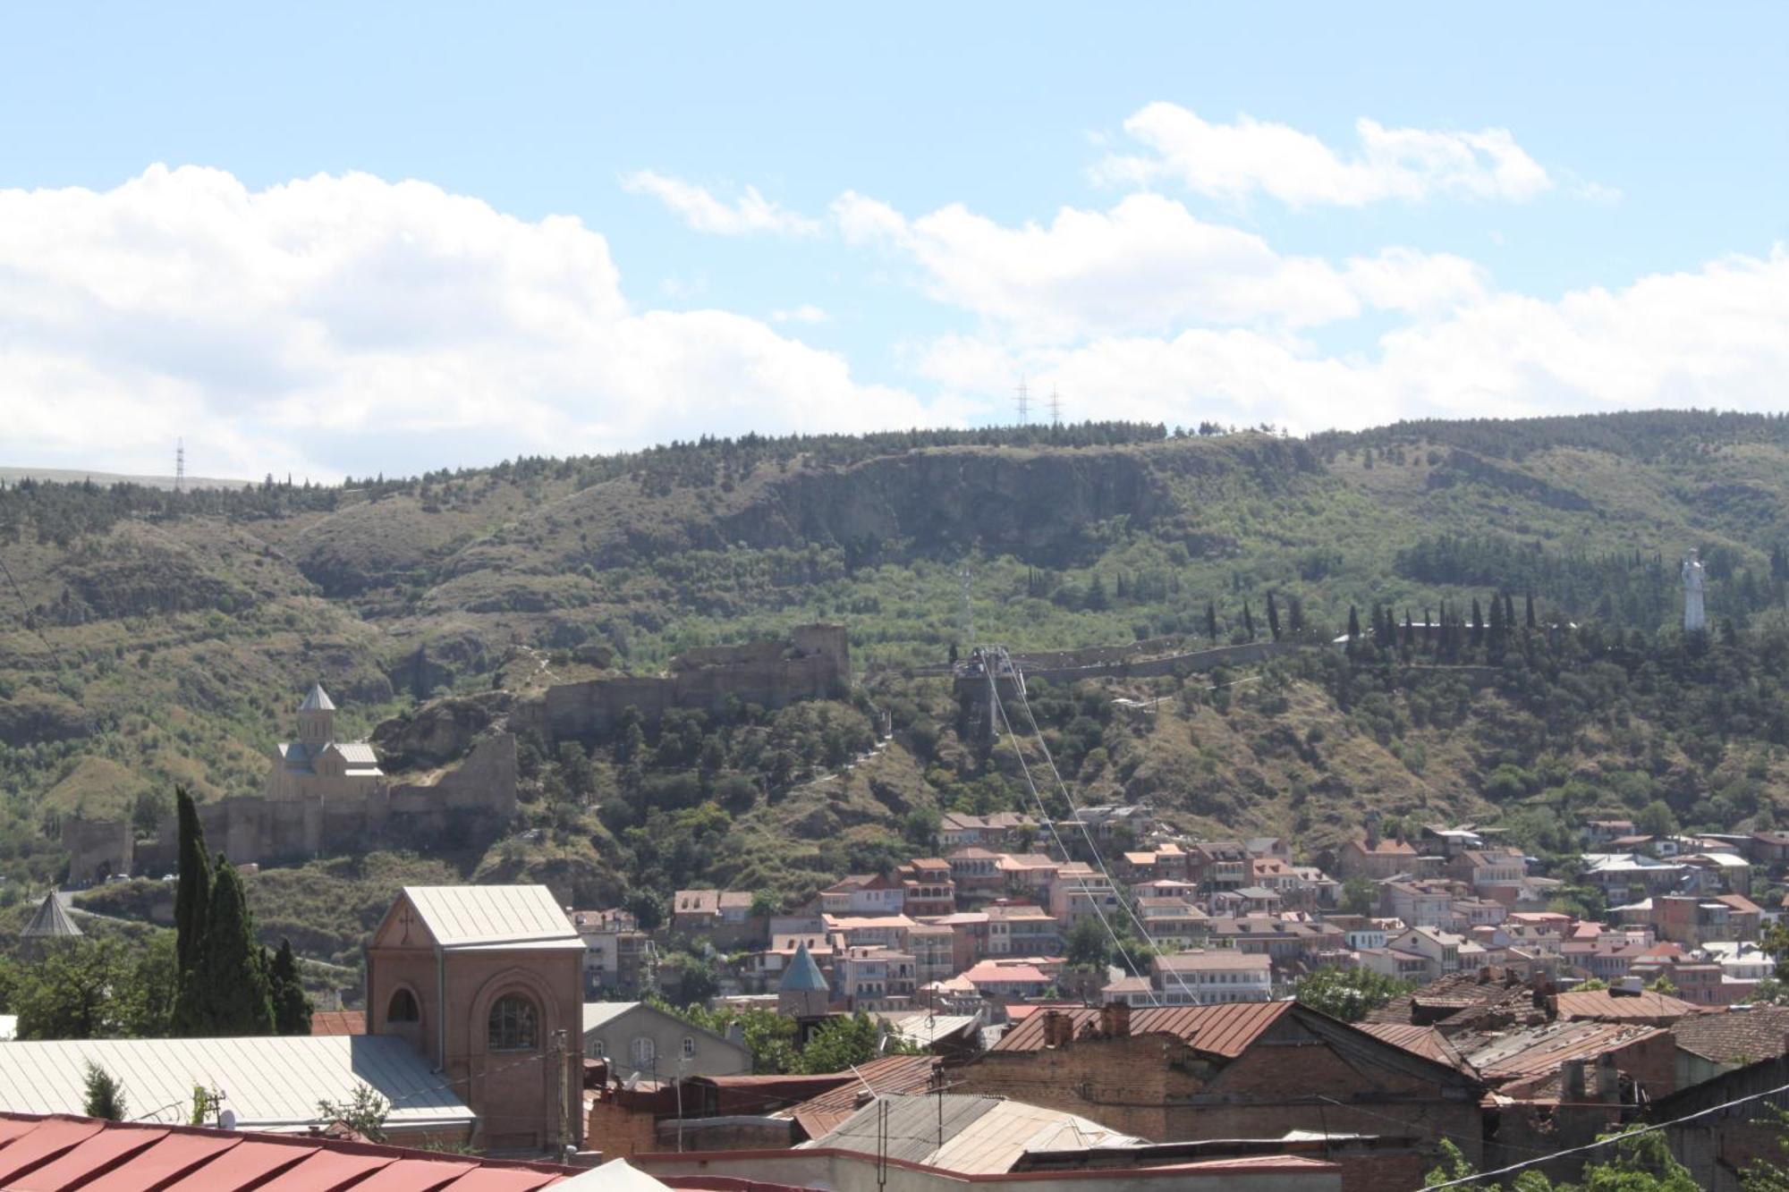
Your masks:
[[[723,711],[728,702],[784,707],[800,700],[841,700],[852,691],[852,653],[843,625],[803,625],[778,641],[691,650],[669,675],[594,678],[547,687],[538,727],[549,741],[592,741],[626,709],[653,721],[674,707]],[[517,709],[521,712],[521,709]],[[512,727],[530,716],[512,714]]]

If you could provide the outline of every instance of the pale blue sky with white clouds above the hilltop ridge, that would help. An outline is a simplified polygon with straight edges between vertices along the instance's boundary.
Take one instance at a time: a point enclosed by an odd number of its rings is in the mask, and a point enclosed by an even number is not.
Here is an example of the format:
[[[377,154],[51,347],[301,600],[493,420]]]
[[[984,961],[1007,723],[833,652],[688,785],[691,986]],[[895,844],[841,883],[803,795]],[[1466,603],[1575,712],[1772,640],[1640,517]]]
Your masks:
[[[0,464],[1778,410],[1789,7],[45,4]]]

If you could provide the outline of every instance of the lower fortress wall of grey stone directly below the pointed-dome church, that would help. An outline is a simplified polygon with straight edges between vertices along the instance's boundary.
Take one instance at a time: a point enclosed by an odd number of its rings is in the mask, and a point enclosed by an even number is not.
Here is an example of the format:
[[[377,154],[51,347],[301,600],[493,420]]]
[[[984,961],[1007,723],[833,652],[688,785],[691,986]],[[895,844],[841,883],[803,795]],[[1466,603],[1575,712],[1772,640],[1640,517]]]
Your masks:
[[[428,782],[381,782],[352,798],[238,796],[199,807],[206,841],[234,864],[306,861],[381,847],[478,845],[501,836],[513,816],[515,737],[508,732],[485,737],[465,761]],[[179,830],[172,816],[156,839],[134,850],[129,839],[129,822],[63,820],[70,881],[86,882],[95,873],[166,873],[179,864]]]

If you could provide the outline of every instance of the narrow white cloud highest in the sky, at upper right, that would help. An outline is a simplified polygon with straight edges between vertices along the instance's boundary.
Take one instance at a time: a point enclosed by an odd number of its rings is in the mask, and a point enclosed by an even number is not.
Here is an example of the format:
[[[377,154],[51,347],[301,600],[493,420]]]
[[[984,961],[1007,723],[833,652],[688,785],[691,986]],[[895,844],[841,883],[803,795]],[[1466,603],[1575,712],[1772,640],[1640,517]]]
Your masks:
[[[1211,123],[1165,102],[1140,109],[1123,127],[1149,152],[1109,156],[1095,168],[1097,177],[1172,181],[1229,200],[1261,192],[1292,206],[1437,195],[1524,202],[1553,186],[1508,129],[1386,129],[1361,118],[1354,122],[1360,149],[1344,156],[1285,123],[1251,116]]]

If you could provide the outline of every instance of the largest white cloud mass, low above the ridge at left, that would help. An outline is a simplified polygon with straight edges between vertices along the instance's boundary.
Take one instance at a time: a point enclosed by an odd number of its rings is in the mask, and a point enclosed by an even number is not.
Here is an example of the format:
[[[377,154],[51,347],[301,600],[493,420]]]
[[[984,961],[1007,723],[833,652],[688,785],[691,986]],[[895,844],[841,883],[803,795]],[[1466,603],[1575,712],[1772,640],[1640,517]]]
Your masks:
[[[184,435],[204,474],[315,478],[961,419],[762,322],[633,308],[574,218],[191,166],[0,190],[0,415],[9,462],[166,471]]]

